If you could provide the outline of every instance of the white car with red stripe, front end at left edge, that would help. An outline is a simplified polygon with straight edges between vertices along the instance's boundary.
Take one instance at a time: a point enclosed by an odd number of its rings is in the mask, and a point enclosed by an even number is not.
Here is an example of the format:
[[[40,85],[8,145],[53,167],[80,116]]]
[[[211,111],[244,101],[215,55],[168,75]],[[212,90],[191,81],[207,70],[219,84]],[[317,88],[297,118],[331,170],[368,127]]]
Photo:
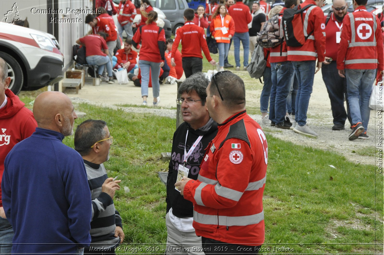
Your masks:
[[[55,36],[0,22],[0,57],[7,62],[9,89],[35,90],[63,77],[63,54]]]

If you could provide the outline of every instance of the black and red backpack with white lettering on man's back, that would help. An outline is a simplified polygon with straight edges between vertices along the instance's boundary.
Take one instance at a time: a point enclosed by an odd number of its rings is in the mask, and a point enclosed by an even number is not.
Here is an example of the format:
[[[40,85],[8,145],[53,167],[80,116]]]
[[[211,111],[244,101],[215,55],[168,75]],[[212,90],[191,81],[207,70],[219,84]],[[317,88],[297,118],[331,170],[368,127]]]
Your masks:
[[[308,37],[313,33],[313,31],[311,31],[305,36],[306,31],[304,31],[303,27],[303,12],[309,8],[313,9],[314,7],[316,7],[316,5],[307,5],[303,8],[300,8],[300,5],[296,5],[294,8],[284,10],[282,23],[287,46],[303,46]]]

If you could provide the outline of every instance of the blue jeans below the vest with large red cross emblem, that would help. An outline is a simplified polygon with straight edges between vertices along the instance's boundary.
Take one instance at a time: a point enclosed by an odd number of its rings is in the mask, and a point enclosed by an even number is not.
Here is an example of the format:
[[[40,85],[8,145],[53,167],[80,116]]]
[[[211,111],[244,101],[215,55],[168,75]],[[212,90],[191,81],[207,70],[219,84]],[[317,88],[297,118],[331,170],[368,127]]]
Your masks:
[[[368,129],[369,98],[371,97],[372,85],[375,80],[376,69],[346,69],[348,103],[351,111],[352,123],[362,123],[365,131]]]

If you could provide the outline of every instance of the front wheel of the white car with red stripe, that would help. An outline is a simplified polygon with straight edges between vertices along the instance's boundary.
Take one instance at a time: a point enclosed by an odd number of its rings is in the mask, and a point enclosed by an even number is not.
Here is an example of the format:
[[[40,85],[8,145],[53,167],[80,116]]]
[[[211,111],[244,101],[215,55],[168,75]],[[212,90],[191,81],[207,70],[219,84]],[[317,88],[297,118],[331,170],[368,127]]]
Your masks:
[[[13,92],[13,94],[17,95],[22,89],[24,82],[22,67],[17,60],[8,53],[0,51],[0,57],[7,62],[8,76],[11,77],[11,82],[8,88]]]

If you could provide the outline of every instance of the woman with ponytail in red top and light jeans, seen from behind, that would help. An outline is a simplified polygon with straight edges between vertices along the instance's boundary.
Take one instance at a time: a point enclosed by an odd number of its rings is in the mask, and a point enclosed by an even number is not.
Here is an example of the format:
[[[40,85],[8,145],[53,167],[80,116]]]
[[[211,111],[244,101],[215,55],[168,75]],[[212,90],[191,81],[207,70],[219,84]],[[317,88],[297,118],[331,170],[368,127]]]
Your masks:
[[[147,1],[147,0],[144,0]],[[139,67],[141,69],[141,97],[142,105],[147,105],[149,71],[151,70],[153,106],[160,103],[160,69],[164,65],[164,51],[166,36],[164,29],[156,25],[157,13],[151,11],[147,15],[146,25],[140,26],[132,38],[132,45],[138,49]],[[139,43],[141,41],[141,47]]]

